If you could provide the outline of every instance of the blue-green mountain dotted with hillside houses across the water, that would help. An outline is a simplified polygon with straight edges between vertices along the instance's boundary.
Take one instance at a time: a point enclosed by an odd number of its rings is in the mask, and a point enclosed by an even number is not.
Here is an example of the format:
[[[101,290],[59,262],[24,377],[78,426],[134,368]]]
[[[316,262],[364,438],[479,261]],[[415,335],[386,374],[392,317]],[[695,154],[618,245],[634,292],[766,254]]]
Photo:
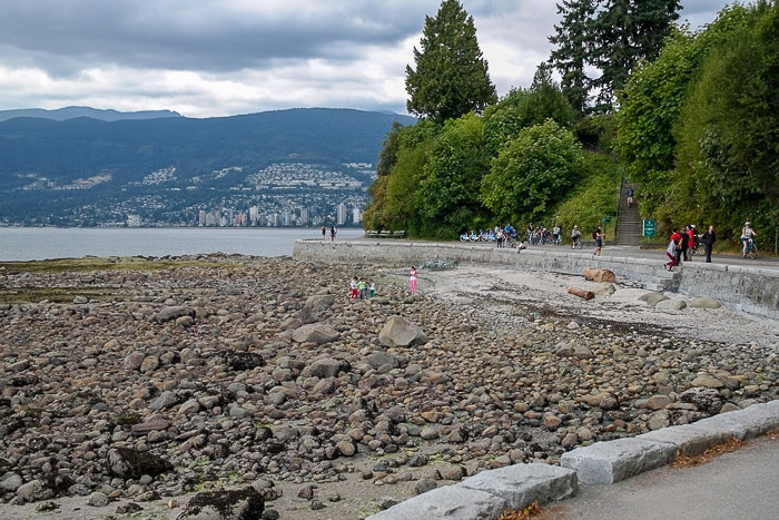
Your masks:
[[[2,120],[9,112],[17,116]],[[415,119],[332,108],[206,119],[167,110],[7,110],[0,223],[101,225],[132,214],[148,225],[197,225],[204,210],[310,208],[317,192],[326,200],[315,212],[327,218],[338,199],[364,202],[395,121]]]

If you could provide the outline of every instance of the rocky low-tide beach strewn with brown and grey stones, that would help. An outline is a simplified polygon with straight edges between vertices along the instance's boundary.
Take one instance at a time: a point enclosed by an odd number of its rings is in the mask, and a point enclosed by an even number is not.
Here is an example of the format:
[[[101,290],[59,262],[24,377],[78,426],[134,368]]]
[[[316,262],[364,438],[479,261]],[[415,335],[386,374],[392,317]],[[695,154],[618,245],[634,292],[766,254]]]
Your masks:
[[[111,295],[0,305],[0,518],[184,519],[249,487],[263,518],[358,519],[779,399],[776,324],[627,281],[423,266],[411,297],[406,269],[170,263],[0,277]],[[353,276],[376,297],[351,301]]]

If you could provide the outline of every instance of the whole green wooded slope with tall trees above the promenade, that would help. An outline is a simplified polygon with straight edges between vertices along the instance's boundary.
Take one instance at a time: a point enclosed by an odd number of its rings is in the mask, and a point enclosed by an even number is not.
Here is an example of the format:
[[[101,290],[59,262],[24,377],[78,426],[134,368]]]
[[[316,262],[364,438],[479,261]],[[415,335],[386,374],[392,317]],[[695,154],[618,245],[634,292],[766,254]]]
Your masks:
[[[729,6],[696,32],[674,23],[679,9],[564,0],[533,84],[494,99],[472,18],[444,0],[406,70],[420,121],[385,139],[366,226],[448,239],[506,223],[589,233],[618,216],[631,181],[660,242],[697,224],[736,245],[745,220],[772,236],[779,7]]]

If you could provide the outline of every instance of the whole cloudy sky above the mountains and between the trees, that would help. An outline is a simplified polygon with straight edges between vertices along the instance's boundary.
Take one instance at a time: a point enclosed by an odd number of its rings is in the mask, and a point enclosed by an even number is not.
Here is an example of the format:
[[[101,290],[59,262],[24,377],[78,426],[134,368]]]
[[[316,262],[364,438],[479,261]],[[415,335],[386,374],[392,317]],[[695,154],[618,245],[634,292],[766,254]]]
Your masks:
[[[461,0],[500,96],[549,58],[555,0]],[[682,0],[698,28],[726,0]],[[217,117],[295,107],[405,114],[405,67],[441,0],[12,0],[0,110]]]

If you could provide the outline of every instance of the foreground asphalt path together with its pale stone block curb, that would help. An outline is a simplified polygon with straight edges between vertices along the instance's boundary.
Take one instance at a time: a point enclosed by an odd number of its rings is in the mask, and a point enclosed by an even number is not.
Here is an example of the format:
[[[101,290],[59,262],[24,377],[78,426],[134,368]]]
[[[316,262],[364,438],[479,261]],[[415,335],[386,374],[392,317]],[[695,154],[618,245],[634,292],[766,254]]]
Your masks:
[[[779,518],[779,401],[693,424],[580,447],[560,467],[513,464],[413,497],[368,520],[497,520],[538,501],[540,520]],[[671,469],[730,440],[749,442],[707,464]]]

